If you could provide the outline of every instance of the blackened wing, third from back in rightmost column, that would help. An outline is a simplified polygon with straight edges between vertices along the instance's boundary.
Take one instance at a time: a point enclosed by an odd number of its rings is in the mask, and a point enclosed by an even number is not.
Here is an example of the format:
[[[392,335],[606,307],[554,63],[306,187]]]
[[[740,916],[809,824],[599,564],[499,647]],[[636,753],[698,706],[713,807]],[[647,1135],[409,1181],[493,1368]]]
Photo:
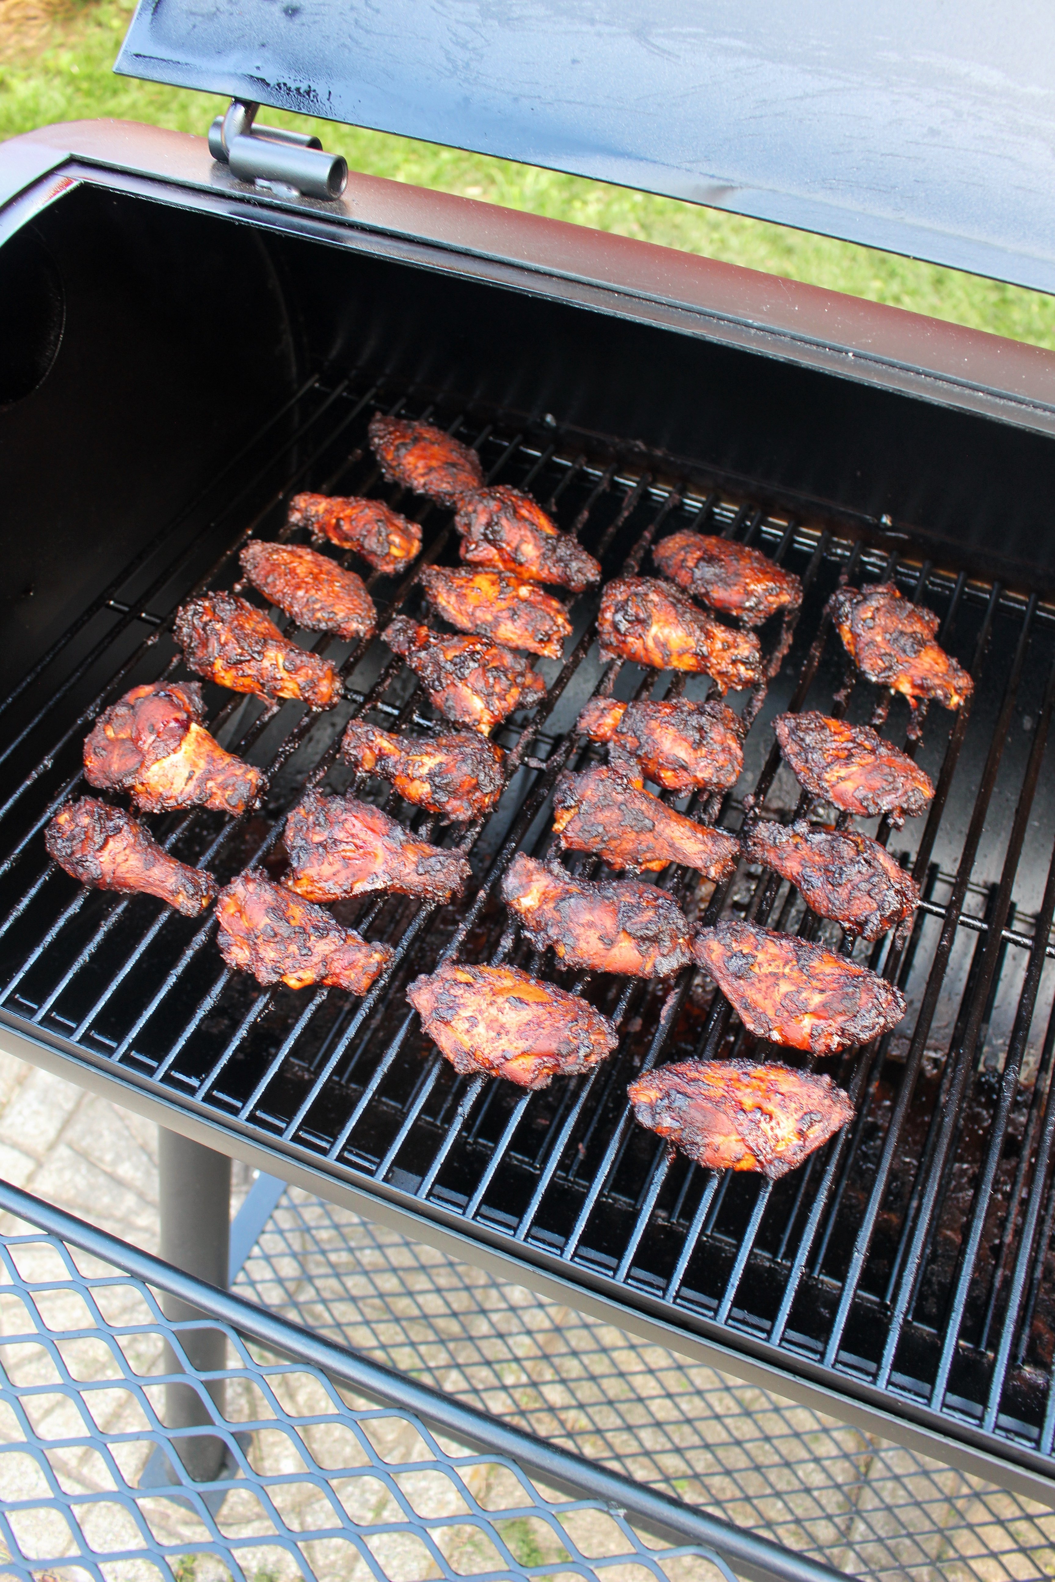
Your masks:
[[[743,856],[791,880],[818,918],[864,940],[902,927],[919,905],[916,881],[868,835],[766,819],[743,837]]]

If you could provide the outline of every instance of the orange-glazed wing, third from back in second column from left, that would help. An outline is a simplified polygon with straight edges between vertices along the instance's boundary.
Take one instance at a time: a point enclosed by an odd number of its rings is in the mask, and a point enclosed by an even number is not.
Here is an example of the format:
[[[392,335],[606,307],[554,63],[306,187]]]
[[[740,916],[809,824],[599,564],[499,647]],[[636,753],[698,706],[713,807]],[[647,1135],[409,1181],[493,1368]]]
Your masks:
[[[538,582],[511,577],[505,571],[475,571],[460,566],[448,571],[425,566],[421,573],[425,598],[444,620],[460,631],[478,631],[508,649],[527,649],[547,660],[565,652],[571,622],[565,606]]]

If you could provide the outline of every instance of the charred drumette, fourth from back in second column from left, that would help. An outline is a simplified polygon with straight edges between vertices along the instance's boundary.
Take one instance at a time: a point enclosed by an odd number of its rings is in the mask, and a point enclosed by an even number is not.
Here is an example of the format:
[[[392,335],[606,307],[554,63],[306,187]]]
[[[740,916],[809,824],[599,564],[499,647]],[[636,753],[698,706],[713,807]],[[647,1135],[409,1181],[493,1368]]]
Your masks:
[[[528,661],[489,638],[441,636],[406,615],[397,615],[381,636],[421,677],[440,713],[481,736],[546,696],[546,682]]]

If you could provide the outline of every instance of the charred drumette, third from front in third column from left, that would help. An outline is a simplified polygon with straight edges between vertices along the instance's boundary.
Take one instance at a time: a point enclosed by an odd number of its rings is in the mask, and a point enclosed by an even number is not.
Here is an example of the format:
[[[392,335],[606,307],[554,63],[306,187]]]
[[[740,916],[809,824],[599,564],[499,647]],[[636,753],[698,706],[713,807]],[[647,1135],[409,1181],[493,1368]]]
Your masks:
[[[554,829],[565,851],[596,851],[612,869],[649,872],[680,862],[704,878],[724,880],[740,856],[732,835],[675,813],[614,764],[560,777]]]

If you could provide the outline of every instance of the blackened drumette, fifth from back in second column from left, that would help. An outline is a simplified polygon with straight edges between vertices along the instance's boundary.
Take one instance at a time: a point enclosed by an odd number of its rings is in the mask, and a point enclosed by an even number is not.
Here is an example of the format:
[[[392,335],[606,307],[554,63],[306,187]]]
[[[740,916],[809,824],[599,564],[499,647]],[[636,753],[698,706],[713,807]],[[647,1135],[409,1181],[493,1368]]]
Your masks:
[[[392,736],[353,720],[340,750],[362,774],[388,780],[403,800],[456,823],[482,818],[501,796],[505,753],[475,731]]]

